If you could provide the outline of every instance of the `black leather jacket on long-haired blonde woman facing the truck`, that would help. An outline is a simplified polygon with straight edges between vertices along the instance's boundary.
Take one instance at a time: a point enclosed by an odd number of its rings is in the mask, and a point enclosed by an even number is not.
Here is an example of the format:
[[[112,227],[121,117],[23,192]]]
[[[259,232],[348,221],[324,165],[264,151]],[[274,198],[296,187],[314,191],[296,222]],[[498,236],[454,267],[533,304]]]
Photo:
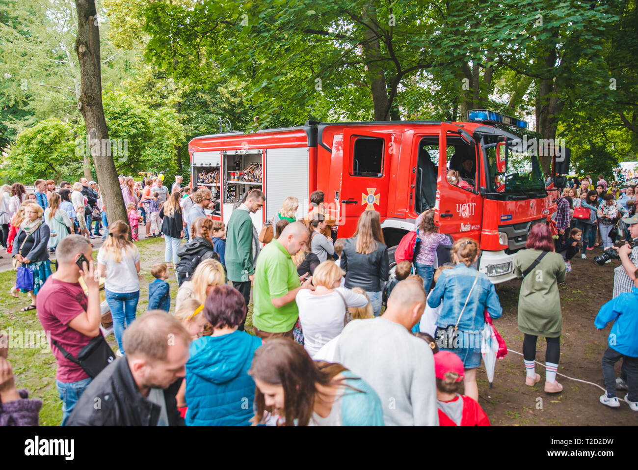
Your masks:
[[[343,244],[341,269],[346,271],[345,287],[361,287],[364,291],[379,292],[388,280],[390,262],[388,247],[376,243],[376,250],[369,255],[357,253],[356,238],[348,238]]]

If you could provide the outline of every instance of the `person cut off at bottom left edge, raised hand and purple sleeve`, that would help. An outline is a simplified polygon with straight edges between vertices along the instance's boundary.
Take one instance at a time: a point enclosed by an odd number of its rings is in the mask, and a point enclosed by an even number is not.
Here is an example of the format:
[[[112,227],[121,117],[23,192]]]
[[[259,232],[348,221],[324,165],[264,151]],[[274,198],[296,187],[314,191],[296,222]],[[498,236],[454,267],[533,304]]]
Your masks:
[[[29,400],[29,393],[15,386],[8,356],[8,337],[0,333],[0,427],[37,426],[41,400]]]

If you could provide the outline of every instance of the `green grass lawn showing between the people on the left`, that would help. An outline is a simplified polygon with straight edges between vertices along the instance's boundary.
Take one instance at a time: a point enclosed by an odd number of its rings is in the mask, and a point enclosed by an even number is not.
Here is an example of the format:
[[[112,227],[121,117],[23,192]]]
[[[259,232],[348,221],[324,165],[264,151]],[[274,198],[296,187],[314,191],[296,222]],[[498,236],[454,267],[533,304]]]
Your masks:
[[[137,306],[137,314],[146,311],[149,303],[149,284],[154,280],[151,275],[151,266],[164,260],[164,240],[162,238],[150,238],[135,243],[140,250],[140,260],[143,280],[140,282],[140,300]],[[97,252],[94,252],[96,257]],[[52,267],[53,269],[53,267]],[[171,308],[174,312],[175,297],[177,296],[177,280],[172,276],[168,279],[170,284]],[[15,283],[15,271],[0,273],[0,285],[6,288],[6,292],[0,295],[0,330],[12,327],[14,331],[42,331],[36,310],[19,312],[20,308],[29,305],[30,299],[26,294],[20,294],[17,299],[8,294],[8,289]],[[253,334],[253,306],[249,305],[246,318],[246,331]],[[113,335],[108,338],[108,343],[117,349]],[[15,374],[15,384],[20,390],[26,388],[29,398],[42,400],[40,411],[41,426],[59,426],[62,421],[62,402],[56,389],[56,359],[47,348],[42,352],[34,348],[14,348],[9,351],[9,361]]]

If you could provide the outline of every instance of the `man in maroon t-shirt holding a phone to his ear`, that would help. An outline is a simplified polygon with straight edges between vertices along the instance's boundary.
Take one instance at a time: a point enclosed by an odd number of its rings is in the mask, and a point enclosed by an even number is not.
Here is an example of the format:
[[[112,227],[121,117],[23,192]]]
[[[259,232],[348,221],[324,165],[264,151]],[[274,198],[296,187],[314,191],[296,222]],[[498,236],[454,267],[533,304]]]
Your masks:
[[[89,260],[80,270],[76,264],[80,255]],[[80,235],[66,236],[56,248],[58,268],[47,278],[38,292],[38,319],[45,331],[50,331],[51,340],[56,340],[66,351],[77,358],[78,352],[100,335],[100,287],[96,280],[93,254],[89,241]],[[78,283],[80,276],[89,289],[84,294]],[[56,386],[62,400],[62,425],[73,411],[82,392],[91,383],[84,369],[66,359],[64,354],[51,344],[56,356]]]

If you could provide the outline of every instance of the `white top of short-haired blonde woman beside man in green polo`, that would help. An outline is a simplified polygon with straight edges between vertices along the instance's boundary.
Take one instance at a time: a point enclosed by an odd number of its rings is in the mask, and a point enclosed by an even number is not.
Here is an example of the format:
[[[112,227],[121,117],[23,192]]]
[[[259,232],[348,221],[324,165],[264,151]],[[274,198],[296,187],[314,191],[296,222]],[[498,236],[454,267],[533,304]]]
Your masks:
[[[337,287],[346,299],[348,307],[365,307],[367,299],[362,294],[355,294],[345,287]],[[304,347],[312,357],[324,344],[338,336],[343,330],[343,318],[346,307],[337,292],[317,296],[309,289],[297,292],[299,322],[304,331]]]

